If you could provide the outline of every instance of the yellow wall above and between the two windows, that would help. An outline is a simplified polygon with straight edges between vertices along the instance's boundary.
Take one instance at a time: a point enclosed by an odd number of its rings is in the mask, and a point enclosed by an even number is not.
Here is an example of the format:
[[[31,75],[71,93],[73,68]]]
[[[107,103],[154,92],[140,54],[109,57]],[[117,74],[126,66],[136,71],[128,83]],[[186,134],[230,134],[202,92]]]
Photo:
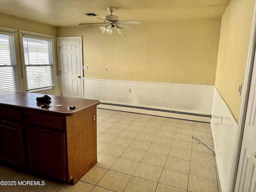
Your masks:
[[[56,27],[54,26],[49,26],[45,24],[40,24],[28,20],[22,20],[10,16],[5,16],[0,14],[0,27],[5,27],[5,28],[12,28],[16,30],[24,30],[24,31],[29,31],[29,32],[36,32],[36,33],[41,33],[41,34],[47,34],[47,35],[52,35],[54,38],[56,38]],[[18,34],[19,35],[19,34]],[[18,38],[19,42],[19,38]],[[20,43],[18,43],[20,45]],[[56,41],[55,41],[55,48],[56,48]],[[20,50],[20,46],[19,46]],[[19,52],[20,54],[20,52]],[[19,77],[19,90],[20,91],[26,91],[24,89],[24,80],[23,80],[23,72],[22,72],[22,62],[21,62],[21,56],[19,56],[20,61],[18,61],[18,77]],[[60,94],[59,90],[59,79],[58,76],[58,66],[57,66],[57,53],[55,50],[55,91],[51,92],[49,94]]]

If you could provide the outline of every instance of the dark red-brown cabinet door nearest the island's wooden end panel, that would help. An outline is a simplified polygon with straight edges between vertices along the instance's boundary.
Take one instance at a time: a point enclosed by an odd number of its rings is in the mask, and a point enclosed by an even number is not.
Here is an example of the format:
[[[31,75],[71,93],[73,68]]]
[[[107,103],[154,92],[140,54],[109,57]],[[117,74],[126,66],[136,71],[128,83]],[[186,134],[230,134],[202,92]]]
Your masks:
[[[66,180],[64,133],[27,126],[29,168]]]

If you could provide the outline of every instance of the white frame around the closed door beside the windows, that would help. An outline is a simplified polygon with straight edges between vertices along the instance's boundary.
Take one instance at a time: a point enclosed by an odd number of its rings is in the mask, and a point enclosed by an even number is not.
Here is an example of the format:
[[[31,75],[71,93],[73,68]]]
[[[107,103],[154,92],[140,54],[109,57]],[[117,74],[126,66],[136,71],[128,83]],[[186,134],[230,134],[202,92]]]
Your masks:
[[[84,70],[83,70],[83,50],[82,50],[82,36],[66,36],[66,37],[56,37],[57,43],[57,56],[58,56],[58,74],[59,74],[59,84],[60,84],[60,94],[62,93],[62,84],[61,84],[61,67],[60,67],[60,40],[79,40],[80,44],[80,62],[81,62],[81,98],[84,98]]]

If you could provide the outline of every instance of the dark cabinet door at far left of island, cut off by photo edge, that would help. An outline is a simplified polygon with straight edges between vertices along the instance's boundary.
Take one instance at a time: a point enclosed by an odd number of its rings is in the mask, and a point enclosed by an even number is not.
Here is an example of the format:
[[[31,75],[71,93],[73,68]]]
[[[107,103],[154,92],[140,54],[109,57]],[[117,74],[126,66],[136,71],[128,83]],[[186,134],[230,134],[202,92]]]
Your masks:
[[[0,160],[25,168],[20,124],[0,120]]]

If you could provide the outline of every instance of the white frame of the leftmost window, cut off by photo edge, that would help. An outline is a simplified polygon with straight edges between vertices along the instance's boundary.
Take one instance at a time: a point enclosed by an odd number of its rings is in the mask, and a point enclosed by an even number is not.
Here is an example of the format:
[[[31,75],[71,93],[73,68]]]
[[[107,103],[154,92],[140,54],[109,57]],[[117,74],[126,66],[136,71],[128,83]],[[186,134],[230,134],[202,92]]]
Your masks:
[[[16,87],[15,91],[19,91],[21,89],[22,84],[20,83],[20,57],[19,57],[19,45],[18,45],[18,30],[12,29],[12,28],[6,28],[6,27],[0,27],[0,34],[3,35],[11,35],[13,36],[14,40],[14,53],[15,53],[15,65],[12,65],[16,70],[16,85],[14,85],[14,88]],[[2,66],[1,66],[2,67]]]

